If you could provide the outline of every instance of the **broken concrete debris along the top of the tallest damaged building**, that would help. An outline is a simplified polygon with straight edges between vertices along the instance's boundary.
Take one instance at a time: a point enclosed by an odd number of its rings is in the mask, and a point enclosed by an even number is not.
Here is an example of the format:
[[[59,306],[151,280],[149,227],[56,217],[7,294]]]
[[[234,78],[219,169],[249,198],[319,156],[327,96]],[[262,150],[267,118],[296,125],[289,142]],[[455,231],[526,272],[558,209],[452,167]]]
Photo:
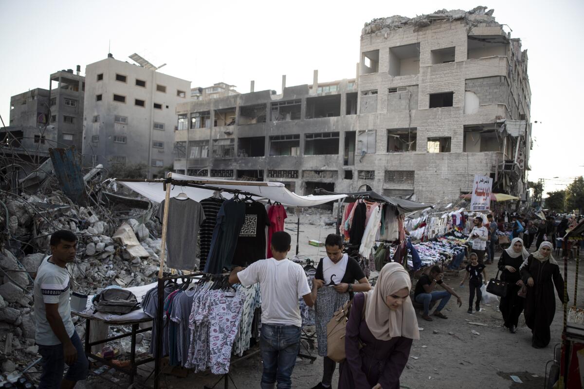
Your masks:
[[[432,22],[437,20],[451,21],[465,19],[468,23],[471,24],[484,23],[498,26],[499,24],[495,22],[495,17],[493,17],[493,12],[495,12],[495,10],[487,10],[487,7],[485,6],[478,6],[469,11],[462,9],[439,9],[434,13],[419,15],[416,17],[405,17],[399,15],[381,17],[373,19],[369,23],[365,23],[363,30],[361,30],[361,36],[374,34],[378,31],[383,32],[383,30],[401,29],[408,26],[414,26],[418,28],[427,27],[430,26]]]

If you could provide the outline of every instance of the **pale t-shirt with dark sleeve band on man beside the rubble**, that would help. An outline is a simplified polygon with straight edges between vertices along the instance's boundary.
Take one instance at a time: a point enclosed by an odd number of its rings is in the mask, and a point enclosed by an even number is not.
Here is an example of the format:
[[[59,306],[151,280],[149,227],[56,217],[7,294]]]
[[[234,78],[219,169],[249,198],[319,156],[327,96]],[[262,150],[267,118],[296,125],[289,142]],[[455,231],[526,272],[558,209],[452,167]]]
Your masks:
[[[71,303],[69,302],[69,272],[67,269],[49,262],[45,257],[34,279],[34,318],[36,319],[35,341],[39,345],[60,345],[61,341],[54,334],[47,320],[44,304],[59,304],[61,320],[69,338],[73,336],[75,325],[71,320]]]

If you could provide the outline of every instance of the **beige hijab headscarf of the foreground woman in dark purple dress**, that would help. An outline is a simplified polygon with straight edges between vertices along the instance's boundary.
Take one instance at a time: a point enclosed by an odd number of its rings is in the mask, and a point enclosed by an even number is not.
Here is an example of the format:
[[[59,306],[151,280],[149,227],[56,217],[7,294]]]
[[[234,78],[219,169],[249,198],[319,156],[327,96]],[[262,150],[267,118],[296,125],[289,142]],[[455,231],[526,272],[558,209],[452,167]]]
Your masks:
[[[386,303],[385,297],[404,288],[408,288],[408,292],[412,289],[408,272],[402,265],[390,262],[379,272],[375,287],[365,295],[365,321],[376,339],[389,341],[394,337],[420,338],[418,319],[410,297],[406,297],[401,307],[395,310]]]

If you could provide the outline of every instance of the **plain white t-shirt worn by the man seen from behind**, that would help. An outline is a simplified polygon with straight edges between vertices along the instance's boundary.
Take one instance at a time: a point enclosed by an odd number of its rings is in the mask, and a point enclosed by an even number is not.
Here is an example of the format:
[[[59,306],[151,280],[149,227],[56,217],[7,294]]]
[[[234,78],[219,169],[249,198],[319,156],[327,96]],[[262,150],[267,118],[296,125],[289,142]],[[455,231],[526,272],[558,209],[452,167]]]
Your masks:
[[[288,260],[253,262],[237,274],[241,285],[259,282],[262,290],[262,323],[302,326],[298,299],[310,293],[304,269]]]

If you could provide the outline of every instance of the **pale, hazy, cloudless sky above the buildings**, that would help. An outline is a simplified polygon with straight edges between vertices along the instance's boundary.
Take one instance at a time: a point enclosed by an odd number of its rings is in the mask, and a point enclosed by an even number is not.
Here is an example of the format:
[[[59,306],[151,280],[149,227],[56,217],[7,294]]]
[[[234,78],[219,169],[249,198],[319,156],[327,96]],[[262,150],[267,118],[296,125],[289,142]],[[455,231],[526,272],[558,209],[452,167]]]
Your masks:
[[[559,190],[584,175],[582,109],[584,2],[491,1],[7,1],[0,0],[0,115],[10,97],[48,89],[49,75],[107,57],[132,62],[138,52],[161,72],[195,86],[216,82],[249,92],[354,78],[364,23],[415,17],[438,7],[495,9],[497,22],[521,38],[529,56],[533,150],[529,180]],[[506,31],[509,31],[505,27]],[[580,48],[578,48],[580,47]],[[537,121],[537,122],[536,122]],[[558,178],[554,178],[558,177]]]

